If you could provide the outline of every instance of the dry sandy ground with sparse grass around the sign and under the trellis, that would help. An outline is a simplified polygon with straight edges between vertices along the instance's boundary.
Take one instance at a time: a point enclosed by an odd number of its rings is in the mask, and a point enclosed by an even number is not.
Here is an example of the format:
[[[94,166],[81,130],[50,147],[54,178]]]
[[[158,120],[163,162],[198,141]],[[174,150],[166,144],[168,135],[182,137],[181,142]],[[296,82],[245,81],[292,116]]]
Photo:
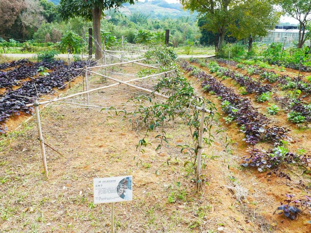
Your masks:
[[[140,70],[138,67],[123,64],[95,71],[126,81],[139,78],[135,76]],[[88,88],[111,84],[102,77],[87,74]],[[152,88],[154,81],[151,77],[134,84]],[[65,96],[81,90],[83,84],[75,85]],[[191,171],[184,166],[188,155],[174,147],[179,143],[192,143],[183,122],[170,122],[166,126],[166,135],[173,139],[170,148],[163,147],[156,152],[156,147],[151,146],[144,154],[136,150],[137,140],[144,131],[135,123],[122,121],[122,114],[113,112],[123,108],[131,111],[134,105],[123,103],[140,94],[124,85],[107,88],[102,93],[92,92],[89,105],[115,106],[110,112],[90,106],[73,107],[73,102],[88,105],[86,96],[68,100],[71,103],[54,102],[45,107],[40,112],[44,140],[60,153],[47,148],[49,180],[45,180],[41,172],[34,122],[29,121],[21,130],[12,132],[9,144],[1,148],[0,157],[4,184],[1,186],[2,229],[9,232],[108,231],[110,208],[106,204],[93,204],[92,178],[127,174],[133,176],[134,199],[115,204],[117,232],[239,232],[241,228],[245,232],[274,232],[272,213],[262,215],[266,208],[274,208],[273,198],[266,195],[268,190],[261,188],[261,181],[256,177],[232,169],[236,166],[232,155],[223,151],[225,133],[216,134],[214,129],[215,144],[205,148],[205,153],[215,160],[209,159],[203,169],[207,171],[208,185],[204,185],[202,196],[194,194],[195,184],[189,182]],[[158,132],[151,132],[148,142],[156,140],[153,139],[156,134]],[[135,156],[141,160],[138,164],[133,160]],[[297,230],[304,232],[304,228]]]

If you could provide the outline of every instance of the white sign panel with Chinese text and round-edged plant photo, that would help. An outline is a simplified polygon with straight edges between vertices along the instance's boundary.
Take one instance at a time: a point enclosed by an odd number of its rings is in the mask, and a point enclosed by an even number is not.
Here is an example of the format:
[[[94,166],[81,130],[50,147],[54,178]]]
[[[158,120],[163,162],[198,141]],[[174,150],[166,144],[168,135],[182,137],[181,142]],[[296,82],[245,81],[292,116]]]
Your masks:
[[[132,176],[94,178],[94,204],[132,201]]]

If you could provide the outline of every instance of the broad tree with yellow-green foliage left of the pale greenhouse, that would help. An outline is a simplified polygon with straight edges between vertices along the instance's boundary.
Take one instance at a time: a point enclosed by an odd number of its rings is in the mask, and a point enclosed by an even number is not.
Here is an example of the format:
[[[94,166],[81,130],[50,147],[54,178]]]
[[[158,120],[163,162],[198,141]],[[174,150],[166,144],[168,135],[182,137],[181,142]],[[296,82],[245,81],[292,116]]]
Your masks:
[[[273,18],[269,16],[273,13],[272,1],[268,0],[180,0],[180,2],[184,8],[199,12],[201,30],[219,35],[219,48],[226,34],[244,37],[247,30],[250,30],[248,35],[262,34],[262,31],[267,31],[265,24],[270,25]]]

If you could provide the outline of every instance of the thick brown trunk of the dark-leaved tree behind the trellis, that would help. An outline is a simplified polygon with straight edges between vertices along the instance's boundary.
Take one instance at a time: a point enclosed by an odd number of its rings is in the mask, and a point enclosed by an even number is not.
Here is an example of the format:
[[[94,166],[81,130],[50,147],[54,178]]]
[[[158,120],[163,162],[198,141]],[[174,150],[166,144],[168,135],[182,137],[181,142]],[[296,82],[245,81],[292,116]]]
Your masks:
[[[101,36],[100,36],[100,19],[103,13],[103,7],[94,7],[92,9],[93,16],[93,30],[94,30],[94,47],[95,47],[95,59],[99,60],[103,57],[101,51]]]

